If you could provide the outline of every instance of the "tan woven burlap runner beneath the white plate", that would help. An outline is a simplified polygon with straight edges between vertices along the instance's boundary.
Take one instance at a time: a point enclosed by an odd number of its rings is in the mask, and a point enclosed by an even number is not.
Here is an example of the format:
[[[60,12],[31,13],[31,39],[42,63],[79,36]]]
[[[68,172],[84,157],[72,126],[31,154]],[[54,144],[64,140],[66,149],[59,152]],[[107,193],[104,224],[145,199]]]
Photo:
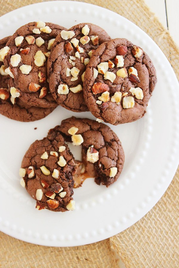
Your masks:
[[[0,1],[0,15],[37,2],[41,1]],[[141,27],[162,49],[179,78],[179,51],[169,32],[143,0],[84,2],[115,11]],[[113,268],[120,267],[122,260],[126,267],[179,267],[178,180],[179,169],[166,193],[146,216],[124,232],[98,243],[71,248],[43,247],[0,233],[0,266],[5,262],[6,267]],[[13,264],[12,261],[17,263]],[[34,265],[33,262],[37,263]]]

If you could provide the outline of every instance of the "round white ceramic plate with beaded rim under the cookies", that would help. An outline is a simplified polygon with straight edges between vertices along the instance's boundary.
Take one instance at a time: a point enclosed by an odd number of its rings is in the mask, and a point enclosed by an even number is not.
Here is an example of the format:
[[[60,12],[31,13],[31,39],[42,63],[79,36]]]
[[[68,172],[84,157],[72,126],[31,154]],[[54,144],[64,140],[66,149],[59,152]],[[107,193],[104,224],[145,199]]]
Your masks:
[[[145,32],[116,13],[86,3],[53,1],[14,10],[0,18],[0,38],[38,20],[67,28],[81,22],[98,24],[112,38],[127,38],[141,46],[157,70],[158,83],[145,116],[133,123],[110,126],[118,134],[125,152],[121,176],[109,188],[87,179],[74,190],[75,211],[36,210],[35,200],[20,186],[18,169],[30,144],[46,136],[61,120],[72,115],[95,118],[90,112],[73,113],[62,107],[30,123],[0,115],[0,230],[46,246],[89,244],[137,222],[169,186],[179,162],[178,81],[162,51]],[[75,156],[79,158],[79,155],[78,149]]]

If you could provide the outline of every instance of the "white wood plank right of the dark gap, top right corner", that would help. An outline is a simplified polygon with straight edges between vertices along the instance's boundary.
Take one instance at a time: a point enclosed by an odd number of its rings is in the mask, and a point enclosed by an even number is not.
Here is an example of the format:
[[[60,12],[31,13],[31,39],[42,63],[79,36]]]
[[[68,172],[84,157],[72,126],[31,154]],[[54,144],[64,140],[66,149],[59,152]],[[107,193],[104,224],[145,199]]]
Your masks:
[[[166,0],[166,13],[169,32],[179,46],[179,1],[178,0]]]

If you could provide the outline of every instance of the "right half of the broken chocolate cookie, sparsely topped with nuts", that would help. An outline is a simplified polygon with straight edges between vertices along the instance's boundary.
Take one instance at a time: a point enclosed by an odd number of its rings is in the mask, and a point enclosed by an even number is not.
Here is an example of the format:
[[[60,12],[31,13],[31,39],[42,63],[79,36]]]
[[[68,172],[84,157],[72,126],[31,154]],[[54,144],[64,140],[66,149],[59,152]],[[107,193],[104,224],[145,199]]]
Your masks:
[[[124,151],[110,127],[90,119],[71,117],[55,130],[73,145],[82,145],[82,161],[97,184],[108,187],[118,179],[124,165]]]

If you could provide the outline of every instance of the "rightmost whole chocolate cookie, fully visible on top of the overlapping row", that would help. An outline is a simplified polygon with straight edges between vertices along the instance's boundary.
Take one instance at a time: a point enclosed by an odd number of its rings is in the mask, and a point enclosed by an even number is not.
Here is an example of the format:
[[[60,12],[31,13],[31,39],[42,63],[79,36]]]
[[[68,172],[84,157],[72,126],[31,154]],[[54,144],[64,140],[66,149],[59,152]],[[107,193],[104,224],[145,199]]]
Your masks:
[[[123,38],[99,46],[84,75],[84,99],[91,113],[117,125],[141,118],[157,82],[152,61]]]

